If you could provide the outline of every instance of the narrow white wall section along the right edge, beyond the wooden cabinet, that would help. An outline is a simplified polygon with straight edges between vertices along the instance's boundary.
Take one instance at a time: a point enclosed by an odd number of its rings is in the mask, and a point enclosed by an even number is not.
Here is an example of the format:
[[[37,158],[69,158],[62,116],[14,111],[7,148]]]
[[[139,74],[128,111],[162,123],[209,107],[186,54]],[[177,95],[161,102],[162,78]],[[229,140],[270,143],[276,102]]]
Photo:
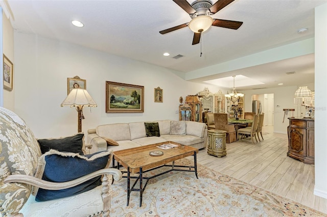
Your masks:
[[[327,4],[315,8],[315,189],[327,198]]]

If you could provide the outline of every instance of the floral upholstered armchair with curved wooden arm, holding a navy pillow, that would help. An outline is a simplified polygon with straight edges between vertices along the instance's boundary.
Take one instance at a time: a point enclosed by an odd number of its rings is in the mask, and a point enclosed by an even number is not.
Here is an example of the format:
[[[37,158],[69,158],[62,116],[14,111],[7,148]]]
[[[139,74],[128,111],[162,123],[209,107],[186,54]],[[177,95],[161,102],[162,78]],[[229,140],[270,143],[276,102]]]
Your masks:
[[[111,158],[110,151],[42,154],[26,123],[0,107],[0,215],[109,216],[110,179],[122,178],[107,168]]]

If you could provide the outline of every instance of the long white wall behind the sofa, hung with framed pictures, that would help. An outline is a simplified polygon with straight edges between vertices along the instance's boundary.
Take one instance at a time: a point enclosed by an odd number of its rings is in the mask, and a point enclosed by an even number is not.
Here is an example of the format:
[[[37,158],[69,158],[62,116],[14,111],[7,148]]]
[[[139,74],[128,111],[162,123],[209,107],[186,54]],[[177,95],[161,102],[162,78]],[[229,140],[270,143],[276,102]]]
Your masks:
[[[77,132],[77,112],[60,107],[67,96],[67,78],[86,79],[86,89],[98,107],[84,108],[82,131],[100,124],[178,120],[175,113],[179,97],[196,94],[205,87],[216,93],[217,87],[186,82],[172,70],[138,62],[74,44],[35,35],[16,33],[15,109],[37,138],[60,137]],[[144,113],[106,113],[107,81],[144,86]],[[163,89],[163,103],[154,102],[154,88]]]

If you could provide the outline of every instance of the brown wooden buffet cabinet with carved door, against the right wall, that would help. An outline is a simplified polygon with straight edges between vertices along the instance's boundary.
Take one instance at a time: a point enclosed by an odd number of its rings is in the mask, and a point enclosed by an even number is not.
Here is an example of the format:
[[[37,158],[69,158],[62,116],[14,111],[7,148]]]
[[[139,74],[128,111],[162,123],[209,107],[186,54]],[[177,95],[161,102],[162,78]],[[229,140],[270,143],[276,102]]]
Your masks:
[[[305,164],[315,164],[315,121],[314,119],[288,118],[287,156]]]

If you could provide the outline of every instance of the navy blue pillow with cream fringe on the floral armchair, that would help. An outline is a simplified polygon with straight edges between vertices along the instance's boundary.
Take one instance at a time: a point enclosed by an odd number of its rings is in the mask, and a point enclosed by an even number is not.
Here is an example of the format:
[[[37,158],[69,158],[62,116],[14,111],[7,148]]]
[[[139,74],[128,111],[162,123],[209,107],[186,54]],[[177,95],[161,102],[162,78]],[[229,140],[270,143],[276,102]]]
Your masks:
[[[51,182],[71,181],[97,170],[104,169],[108,163],[110,153],[110,151],[101,151],[94,154],[79,155],[51,150],[41,156],[43,163],[45,162],[45,167],[39,166],[36,176],[42,176],[43,180]],[[43,168],[44,171],[42,173]],[[61,190],[39,188],[35,200],[48,201],[78,195],[100,184],[101,176],[98,176],[71,188]]]

